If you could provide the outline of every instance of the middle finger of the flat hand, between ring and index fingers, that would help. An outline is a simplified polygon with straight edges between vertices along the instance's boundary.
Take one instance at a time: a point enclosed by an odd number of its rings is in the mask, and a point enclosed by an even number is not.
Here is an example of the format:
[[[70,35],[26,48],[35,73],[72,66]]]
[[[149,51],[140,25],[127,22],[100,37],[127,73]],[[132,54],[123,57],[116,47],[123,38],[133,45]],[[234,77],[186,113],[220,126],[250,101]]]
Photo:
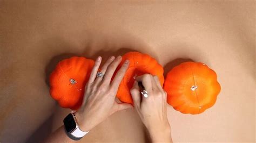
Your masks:
[[[114,61],[109,65],[109,67],[107,67],[106,73],[105,73],[104,78],[103,78],[103,83],[104,84],[109,84],[110,83],[111,78],[114,74],[114,71],[117,69],[121,60],[122,60],[122,56],[119,55],[119,56],[117,56],[116,59],[114,59]]]

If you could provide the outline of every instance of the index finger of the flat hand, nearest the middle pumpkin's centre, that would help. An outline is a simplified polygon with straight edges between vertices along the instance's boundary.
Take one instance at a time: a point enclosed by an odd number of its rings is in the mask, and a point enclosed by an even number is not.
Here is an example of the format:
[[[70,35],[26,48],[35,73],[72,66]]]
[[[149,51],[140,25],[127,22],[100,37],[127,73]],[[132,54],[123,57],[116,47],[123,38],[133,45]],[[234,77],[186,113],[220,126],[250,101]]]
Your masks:
[[[114,91],[118,90],[119,84],[123,80],[125,72],[126,72],[127,68],[129,67],[129,63],[130,63],[129,60],[125,60],[122,67],[117,71],[116,76],[114,76],[114,79],[111,83],[111,87],[113,88]]]

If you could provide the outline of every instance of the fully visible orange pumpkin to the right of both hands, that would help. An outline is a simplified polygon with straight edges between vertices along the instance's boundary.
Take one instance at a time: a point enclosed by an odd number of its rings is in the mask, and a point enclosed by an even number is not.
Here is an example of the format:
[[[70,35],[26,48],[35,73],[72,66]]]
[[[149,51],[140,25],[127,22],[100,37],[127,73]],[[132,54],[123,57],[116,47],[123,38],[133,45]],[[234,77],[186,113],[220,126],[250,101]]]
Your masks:
[[[165,78],[167,103],[182,113],[199,114],[214,105],[220,92],[216,73],[200,62],[184,62]]]

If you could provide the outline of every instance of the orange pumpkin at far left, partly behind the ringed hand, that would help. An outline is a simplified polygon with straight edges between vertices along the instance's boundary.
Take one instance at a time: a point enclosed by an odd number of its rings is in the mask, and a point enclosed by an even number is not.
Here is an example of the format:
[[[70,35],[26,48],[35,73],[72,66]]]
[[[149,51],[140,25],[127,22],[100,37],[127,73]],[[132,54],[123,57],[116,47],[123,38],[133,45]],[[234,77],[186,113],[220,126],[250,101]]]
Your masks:
[[[50,75],[51,97],[63,108],[79,109],[93,65],[93,60],[77,56],[60,61]]]

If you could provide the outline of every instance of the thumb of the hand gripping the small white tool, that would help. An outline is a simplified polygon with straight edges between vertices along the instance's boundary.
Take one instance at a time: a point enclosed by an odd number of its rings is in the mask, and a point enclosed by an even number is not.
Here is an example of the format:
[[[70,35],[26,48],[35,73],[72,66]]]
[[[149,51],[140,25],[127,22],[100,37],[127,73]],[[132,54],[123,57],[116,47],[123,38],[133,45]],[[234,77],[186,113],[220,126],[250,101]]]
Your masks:
[[[140,107],[140,103],[142,101],[142,96],[140,95],[139,84],[138,84],[137,81],[134,81],[133,87],[130,90],[130,92],[131,92],[131,95],[132,95],[133,104]]]

